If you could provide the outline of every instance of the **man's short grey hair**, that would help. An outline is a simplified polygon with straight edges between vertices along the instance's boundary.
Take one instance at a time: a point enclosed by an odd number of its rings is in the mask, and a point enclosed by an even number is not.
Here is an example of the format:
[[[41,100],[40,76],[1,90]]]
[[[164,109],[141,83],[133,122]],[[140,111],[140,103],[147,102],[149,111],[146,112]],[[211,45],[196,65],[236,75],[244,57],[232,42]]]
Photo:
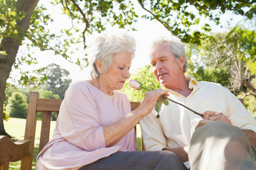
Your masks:
[[[168,48],[171,50],[171,53],[177,61],[179,61],[181,56],[185,57],[183,67],[183,72],[185,73],[188,69],[188,61],[183,42],[176,36],[163,36],[152,42],[151,49],[161,44],[168,45]]]

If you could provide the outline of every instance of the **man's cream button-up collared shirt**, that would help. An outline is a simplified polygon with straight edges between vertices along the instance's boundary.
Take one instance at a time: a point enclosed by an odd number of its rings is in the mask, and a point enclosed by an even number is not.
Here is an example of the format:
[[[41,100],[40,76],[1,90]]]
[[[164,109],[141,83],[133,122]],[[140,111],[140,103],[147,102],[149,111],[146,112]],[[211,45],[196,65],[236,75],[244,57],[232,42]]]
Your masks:
[[[193,89],[188,97],[170,91],[170,99],[204,113],[216,111],[225,114],[232,125],[241,129],[256,131],[256,120],[246,110],[240,100],[228,88],[211,82],[196,82],[187,76],[189,88]],[[160,117],[155,109],[141,121],[142,138],[146,151],[160,151],[163,148],[188,146],[197,124],[202,118],[181,105],[169,101],[162,105]],[[221,131],[220,131],[221,133]]]

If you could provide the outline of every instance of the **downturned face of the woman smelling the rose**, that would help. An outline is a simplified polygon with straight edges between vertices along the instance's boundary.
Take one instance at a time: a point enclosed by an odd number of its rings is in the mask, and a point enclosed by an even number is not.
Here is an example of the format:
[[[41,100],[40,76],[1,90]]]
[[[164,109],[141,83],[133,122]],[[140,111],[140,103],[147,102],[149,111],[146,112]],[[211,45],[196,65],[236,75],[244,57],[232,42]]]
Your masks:
[[[128,52],[114,54],[114,61],[110,66],[109,73],[100,75],[100,79],[103,80],[102,83],[104,83],[107,91],[123,88],[126,79],[130,78],[129,69],[132,58],[131,53]]]

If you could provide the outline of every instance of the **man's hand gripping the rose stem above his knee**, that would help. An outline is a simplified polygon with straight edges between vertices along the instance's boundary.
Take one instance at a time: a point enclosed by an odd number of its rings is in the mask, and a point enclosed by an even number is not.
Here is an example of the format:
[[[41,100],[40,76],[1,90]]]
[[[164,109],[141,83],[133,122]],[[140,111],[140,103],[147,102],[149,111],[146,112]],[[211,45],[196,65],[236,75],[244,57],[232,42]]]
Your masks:
[[[225,122],[227,124],[232,125],[229,118],[226,117],[223,113],[205,111],[203,114],[204,114],[204,119],[199,122],[196,128],[199,128],[200,126],[203,126],[211,121],[221,121],[221,122]]]

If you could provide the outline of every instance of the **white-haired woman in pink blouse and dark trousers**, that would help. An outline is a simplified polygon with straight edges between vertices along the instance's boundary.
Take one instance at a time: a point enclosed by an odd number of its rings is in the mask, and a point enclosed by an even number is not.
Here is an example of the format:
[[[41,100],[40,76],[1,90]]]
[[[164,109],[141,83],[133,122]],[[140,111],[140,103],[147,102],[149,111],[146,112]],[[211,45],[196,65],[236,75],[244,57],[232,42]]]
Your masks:
[[[147,92],[133,112],[127,96],[116,91],[130,78],[134,38],[102,32],[93,45],[92,79],[73,82],[65,92],[36,169],[187,169],[172,152],[137,151],[134,126],[168,91]]]

